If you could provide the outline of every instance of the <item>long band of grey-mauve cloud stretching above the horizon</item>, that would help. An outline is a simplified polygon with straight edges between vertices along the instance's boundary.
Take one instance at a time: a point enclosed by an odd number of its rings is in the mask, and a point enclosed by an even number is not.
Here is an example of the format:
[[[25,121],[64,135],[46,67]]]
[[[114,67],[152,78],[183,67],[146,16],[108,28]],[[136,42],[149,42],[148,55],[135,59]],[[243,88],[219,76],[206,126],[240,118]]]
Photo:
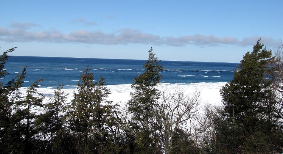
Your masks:
[[[82,20],[83,21],[83,20]],[[127,45],[131,43],[169,45],[169,46],[214,46],[214,45],[253,45],[261,38],[268,46],[276,46],[279,40],[265,36],[245,37],[239,40],[234,37],[204,36],[201,34],[186,35],[180,37],[161,37],[154,34],[141,32],[136,29],[119,29],[116,32],[104,33],[101,31],[77,30],[69,34],[63,34],[57,30],[32,31],[28,28],[38,26],[32,23],[12,23],[14,28],[0,27],[0,40],[5,42],[54,42],[54,43],[87,43],[102,45]]]

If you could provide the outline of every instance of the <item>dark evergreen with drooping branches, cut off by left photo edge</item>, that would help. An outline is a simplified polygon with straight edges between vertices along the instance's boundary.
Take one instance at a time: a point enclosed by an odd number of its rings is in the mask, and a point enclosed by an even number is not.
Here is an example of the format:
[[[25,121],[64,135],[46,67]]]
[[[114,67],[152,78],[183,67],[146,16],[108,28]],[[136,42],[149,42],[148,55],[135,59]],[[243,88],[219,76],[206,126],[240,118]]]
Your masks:
[[[5,62],[8,60],[11,48],[0,56],[0,78],[5,78],[9,73],[4,69]],[[18,123],[21,118],[13,112],[21,99],[19,88],[23,83],[26,68],[21,74],[17,75],[6,84],[0,83],[0,151],[1,153],[21,153],[23,151],[21,129]]]

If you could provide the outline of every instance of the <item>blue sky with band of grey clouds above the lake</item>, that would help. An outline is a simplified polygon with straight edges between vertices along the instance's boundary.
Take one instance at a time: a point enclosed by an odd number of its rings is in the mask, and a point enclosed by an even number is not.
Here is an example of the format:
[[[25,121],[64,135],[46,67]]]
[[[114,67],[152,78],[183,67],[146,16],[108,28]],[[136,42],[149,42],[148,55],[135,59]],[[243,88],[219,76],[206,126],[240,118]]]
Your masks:
[[[0,1],[11,55],[239,62],[283,36],[283,1]]]

